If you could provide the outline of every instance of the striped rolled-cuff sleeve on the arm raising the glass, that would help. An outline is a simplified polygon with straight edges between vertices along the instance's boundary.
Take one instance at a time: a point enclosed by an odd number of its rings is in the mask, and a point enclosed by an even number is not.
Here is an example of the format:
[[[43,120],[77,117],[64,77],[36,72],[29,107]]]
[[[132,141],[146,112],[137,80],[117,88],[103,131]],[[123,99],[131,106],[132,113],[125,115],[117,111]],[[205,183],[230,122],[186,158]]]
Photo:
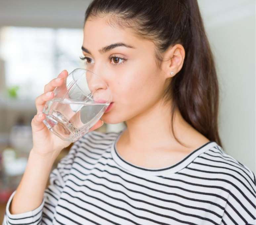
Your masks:
[[[32,211],[23,212],[20,214],[10,213],[10,204],[15,190],[10,196],[6,212],[2,225],[9,224],[29,224],[29,225],[40,225],[40,224],[53,224],[55,207],[58,204],[58,200],[62,193],[62,190],[67,180],[70,168],[72,167],[73,160],[76,154],[77,145],[73,144],[69,150],[69,153],[60,160],[57,168],[53,169],[50,173],[50,185],[45,189],[44,198],[40,206]],[[40,175],[40,174],[39,174]]]

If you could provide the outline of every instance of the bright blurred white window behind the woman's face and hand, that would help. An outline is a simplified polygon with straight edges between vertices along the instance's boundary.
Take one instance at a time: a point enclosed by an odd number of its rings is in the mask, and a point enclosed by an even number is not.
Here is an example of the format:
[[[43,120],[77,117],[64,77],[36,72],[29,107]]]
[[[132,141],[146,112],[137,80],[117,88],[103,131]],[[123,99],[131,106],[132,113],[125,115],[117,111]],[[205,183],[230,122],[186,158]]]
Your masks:
[[[34,100],[62,70],[84,67],[79,59],[82,43],[82,29],[2,27],[0,58],[5,87],[18,85],[17,98]]]

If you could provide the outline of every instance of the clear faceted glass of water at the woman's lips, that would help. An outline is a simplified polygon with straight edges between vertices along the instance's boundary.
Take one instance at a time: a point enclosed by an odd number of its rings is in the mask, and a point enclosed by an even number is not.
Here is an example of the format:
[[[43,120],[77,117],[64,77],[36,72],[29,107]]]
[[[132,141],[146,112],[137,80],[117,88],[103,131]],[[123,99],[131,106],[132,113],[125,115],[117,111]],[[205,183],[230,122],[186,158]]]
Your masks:
[[[82,68],[73,70],[53,92],[53,99],[43,109],[43,123],[61,139],[71,142],[87,133],[112,101],[104,80]]]

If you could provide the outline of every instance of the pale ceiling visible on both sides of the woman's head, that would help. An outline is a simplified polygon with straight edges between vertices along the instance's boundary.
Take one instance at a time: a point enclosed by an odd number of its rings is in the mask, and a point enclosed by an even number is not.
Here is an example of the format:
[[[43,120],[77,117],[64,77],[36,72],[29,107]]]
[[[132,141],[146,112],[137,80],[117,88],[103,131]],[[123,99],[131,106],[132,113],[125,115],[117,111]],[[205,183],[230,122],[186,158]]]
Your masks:
[[[82,28],[91,0],[0,0],[0,26]],[[255,15],[253,0],[198,0],[205,26]]]

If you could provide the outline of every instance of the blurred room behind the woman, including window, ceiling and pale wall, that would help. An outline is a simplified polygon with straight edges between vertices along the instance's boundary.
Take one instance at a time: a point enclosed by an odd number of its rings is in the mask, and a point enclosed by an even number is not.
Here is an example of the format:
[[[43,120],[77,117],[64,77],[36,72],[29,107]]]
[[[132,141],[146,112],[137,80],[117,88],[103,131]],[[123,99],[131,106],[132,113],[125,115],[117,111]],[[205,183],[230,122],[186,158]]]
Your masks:
[[[84,67],[79,56],[89,3],[0,1],[0,221],[32,148],[35,98],[63,69]],[[198,4],[219,76],[223,148],[255,173],[255,1]],[[120,131],[124,126],[104,124],[97,130]]]

